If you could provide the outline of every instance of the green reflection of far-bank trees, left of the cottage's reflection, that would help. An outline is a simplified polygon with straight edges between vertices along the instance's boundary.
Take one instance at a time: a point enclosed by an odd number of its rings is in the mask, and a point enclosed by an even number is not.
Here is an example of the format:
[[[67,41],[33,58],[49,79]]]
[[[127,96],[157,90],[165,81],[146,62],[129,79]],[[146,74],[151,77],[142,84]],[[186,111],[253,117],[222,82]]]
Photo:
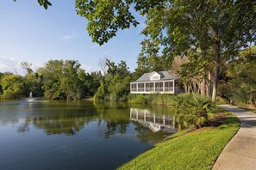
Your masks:
[[[61,112],[43,112],[40,116],[28,117],[18,127],[18,132],[29,131],[29,124],[35,128],[44,130],[48,135],[65,134],[74,135],[91,121],[98,121],[100,133],[109,138],[115,133],[125,133],[129,124],[128,110],[122,106],[94,106],[90,109],[66,108]],[[125,111],[125,112],[124,112]],[[86,128],[86,127],[85,127]]]

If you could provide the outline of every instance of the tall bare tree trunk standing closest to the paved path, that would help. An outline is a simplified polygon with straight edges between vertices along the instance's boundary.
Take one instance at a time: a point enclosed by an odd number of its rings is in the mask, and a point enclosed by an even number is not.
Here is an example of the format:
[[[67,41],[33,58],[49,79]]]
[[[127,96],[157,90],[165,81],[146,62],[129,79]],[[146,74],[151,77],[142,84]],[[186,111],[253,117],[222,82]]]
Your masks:
[[[217,88],[219,82],[219,72],[220,72],[220,58],[221,58],[221,40],[219,38],[218,28],[214,29],[214,51],[215,51],[215,82],[212,92],[212,100],[216,100]]]

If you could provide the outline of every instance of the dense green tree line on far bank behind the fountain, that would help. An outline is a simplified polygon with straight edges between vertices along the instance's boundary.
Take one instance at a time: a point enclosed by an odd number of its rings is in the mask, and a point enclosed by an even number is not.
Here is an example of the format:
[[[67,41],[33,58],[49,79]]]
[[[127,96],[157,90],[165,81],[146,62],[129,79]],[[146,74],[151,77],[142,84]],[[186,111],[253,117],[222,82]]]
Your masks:
[[[75,60],[50,60],[36,71],[28,62],[22,63],[26,76],[1,73],[1,99],[44,97],[49,100],[82,100],[95,94],[100,86],[100,72],[86,73]]]

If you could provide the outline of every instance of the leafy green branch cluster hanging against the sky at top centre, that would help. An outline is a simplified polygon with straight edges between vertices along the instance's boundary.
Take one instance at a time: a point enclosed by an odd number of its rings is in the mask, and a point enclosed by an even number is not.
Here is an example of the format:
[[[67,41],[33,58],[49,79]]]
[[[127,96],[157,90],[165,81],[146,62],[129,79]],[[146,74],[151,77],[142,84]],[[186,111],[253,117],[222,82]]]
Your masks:
[[[99,45],[116,36],[118,28],[136,26],[138,21],[129,11],[132,1],[76,1],[78,15],[85,17],[89,23],[87,31],[93,42]]]

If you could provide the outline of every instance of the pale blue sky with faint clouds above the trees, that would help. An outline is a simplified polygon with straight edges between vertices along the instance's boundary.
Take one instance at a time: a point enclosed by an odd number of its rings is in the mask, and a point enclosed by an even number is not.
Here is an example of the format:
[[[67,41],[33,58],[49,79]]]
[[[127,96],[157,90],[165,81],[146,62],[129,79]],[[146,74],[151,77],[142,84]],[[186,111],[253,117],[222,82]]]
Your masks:
[[[130,70],[137,66],[140,35],[144,18],[138,27],[118,31],[116,37],[103,46],[93,43],[86,31],[87,21],[76,14],[75,1],[52,0],[47,10],[34,1],[0,1],[0,72],[24,74],[21,62],[32,68],[43,66],[50,59],[78,60],[87,72],[100,70],[100,58],[110,58],[118,64],[127,62]]]

